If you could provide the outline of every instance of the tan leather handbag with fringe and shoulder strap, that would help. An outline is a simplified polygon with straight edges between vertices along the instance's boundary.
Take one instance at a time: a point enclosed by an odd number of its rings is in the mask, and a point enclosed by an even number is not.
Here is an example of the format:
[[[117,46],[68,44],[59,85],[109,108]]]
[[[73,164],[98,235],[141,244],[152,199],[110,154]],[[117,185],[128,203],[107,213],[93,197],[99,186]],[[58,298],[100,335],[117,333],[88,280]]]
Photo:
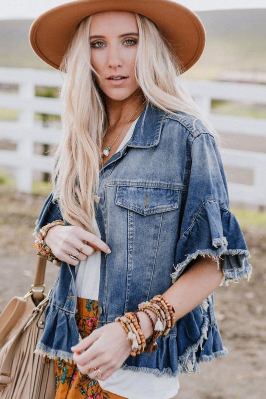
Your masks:
[[[34,281],[0,314],[0,399],[54,399],[53,361],[34,354],[43,331],[49,294],[44,294],[46,260],[37,258]]]

